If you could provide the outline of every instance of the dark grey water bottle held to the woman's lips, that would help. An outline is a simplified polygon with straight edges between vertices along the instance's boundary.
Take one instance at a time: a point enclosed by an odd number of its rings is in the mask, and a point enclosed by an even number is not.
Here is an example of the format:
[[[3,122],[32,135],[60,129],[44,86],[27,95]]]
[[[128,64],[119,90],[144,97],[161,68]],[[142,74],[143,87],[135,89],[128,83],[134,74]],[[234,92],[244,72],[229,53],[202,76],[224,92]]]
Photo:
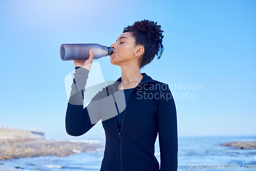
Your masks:
[[[113,48],[99,44],[62,44],[60,46],[60,57],[62,60],[86,60],[89,51],[93,50],[93,59],[99,59],[113,53]]]

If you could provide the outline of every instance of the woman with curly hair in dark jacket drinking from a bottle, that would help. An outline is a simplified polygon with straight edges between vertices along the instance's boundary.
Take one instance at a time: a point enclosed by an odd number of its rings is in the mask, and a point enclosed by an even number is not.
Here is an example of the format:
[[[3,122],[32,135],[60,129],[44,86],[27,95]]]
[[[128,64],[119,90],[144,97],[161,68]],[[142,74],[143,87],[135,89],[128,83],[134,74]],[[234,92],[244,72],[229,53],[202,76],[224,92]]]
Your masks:
[[[102,171],[177,170],[177,116],[172,93],[168,84],[140,73],[155,55],[160,58],[162,32],[161,26],[145,19],[124,28],[111,45],[114,53],[110,56],[110,62],[121,68],[121,77],[97,93],[84,109],[84,87],[94,54],[90,50],[88,60],[74,61],[76,70],[66,113],[66,130],[69,135],[80,136],[102,120],[106,138]],[[125,98],[124,110],[119,105],[121,90]],[[154,155],[157,135],[160,169]]]

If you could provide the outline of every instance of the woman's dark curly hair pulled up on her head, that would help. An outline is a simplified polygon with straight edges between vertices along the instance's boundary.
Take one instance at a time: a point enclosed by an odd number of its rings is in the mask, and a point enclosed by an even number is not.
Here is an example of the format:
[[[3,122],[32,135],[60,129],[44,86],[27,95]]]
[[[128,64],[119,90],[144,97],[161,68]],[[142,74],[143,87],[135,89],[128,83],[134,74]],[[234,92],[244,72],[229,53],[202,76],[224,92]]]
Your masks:
[[[135,44],[144,47],[144,53],[139,59],[140,69],[150,63],[155,55],[158,56],[157,59],[161,57],[163,53],[163,31],[161,26],[157,25],[157,22],[144,19],[135,22],[132,26],[125,27],[123,33],[125,32],[131,32],[132,37],[135,38]]]

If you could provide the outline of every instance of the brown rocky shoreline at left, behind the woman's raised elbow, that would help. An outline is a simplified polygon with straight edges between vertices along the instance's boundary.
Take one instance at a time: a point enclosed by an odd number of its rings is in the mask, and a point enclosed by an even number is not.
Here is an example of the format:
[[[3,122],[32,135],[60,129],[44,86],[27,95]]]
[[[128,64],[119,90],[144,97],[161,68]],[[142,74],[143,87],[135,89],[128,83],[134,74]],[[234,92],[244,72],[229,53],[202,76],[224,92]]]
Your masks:
[[[46,139],[0,139],[0,160],[39,156],[68,156],[97,151],[103,146],[84,142]]]

